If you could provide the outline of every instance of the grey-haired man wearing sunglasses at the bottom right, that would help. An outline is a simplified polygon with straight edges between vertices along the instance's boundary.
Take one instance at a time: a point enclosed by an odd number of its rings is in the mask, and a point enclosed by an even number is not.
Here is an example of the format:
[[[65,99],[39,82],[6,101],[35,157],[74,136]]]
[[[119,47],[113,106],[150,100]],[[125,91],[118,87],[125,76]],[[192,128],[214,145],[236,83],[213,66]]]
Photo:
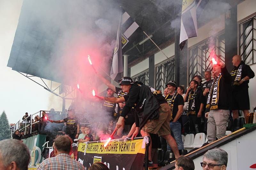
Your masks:
[[[201,166],[203,170],[226,170],[228,165],[228,153],[220,148],[208,150],[203,155]]]

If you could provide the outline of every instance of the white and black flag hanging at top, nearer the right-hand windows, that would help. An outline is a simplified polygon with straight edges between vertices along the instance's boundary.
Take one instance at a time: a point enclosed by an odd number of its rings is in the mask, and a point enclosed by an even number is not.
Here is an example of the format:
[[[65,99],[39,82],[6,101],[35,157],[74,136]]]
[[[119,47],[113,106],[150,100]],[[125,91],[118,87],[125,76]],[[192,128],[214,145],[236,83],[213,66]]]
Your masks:
[[[183,0],[180,24],[180,44],[197,36],[196,0]]]

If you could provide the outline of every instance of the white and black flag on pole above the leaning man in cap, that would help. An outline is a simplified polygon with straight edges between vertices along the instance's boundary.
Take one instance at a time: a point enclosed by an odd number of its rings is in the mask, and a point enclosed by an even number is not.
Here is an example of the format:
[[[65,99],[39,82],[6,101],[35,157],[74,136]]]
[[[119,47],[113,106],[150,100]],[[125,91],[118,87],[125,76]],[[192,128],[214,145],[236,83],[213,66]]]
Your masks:
[[[136,30],[139,30],[139,25],[130,17],[130,15],[121,9],[119,25],[116,36],[116,46],[113,55],[113,63],[110,76],[113,80],[119,80],[121,77],[118,74],[124,71],[123,69],[123,54],[122,49],[129,43],[134,41]]]

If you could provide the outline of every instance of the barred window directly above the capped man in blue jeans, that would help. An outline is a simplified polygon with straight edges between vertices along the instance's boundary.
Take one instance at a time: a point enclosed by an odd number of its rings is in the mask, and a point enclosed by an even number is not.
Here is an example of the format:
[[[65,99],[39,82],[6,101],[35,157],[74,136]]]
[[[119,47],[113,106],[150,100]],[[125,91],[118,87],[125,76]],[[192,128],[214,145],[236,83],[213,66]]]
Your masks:
[[[162,92],[170,80],[174,80],[174,58],[156,67],[156,89]]]

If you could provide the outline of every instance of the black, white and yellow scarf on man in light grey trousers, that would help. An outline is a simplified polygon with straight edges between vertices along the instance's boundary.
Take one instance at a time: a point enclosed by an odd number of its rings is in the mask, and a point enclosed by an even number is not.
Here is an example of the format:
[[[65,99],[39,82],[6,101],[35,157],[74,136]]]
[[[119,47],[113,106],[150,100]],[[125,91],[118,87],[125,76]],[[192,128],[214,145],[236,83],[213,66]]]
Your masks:
[[[210,110],[218,109],[218,101],[219,101],[219,84],[222,74],[220,73],[218,77],[216,77],[212,83],[212,88],[210,90],[209,96],[207,98],[206,108]]]

